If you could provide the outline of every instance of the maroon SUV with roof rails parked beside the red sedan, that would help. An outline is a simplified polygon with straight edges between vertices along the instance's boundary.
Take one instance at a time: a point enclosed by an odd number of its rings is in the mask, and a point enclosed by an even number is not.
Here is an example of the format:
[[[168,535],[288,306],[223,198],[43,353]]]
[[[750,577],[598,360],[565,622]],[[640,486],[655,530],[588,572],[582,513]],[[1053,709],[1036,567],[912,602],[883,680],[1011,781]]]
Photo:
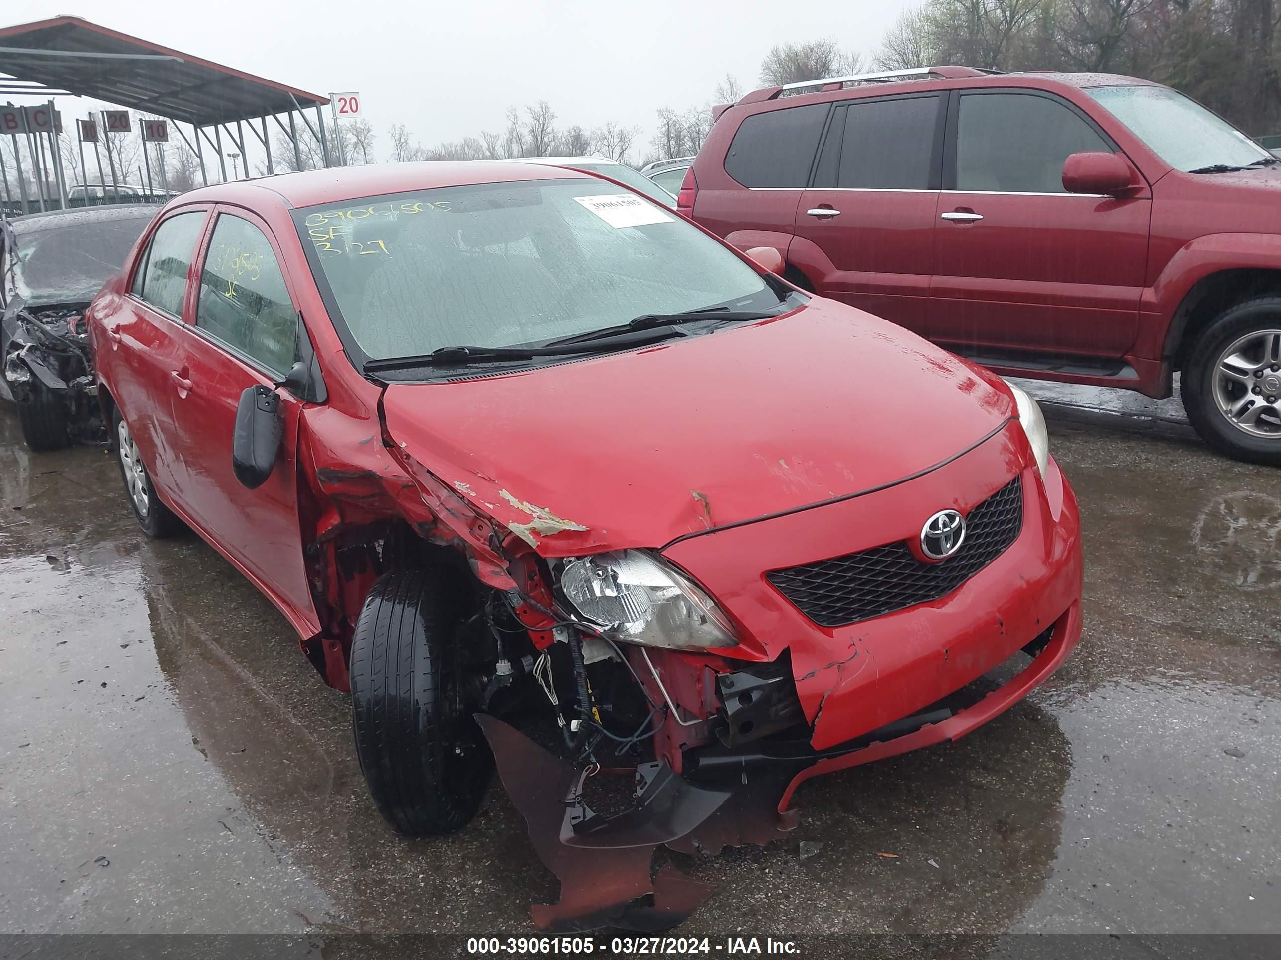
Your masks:
[[[1002,374],[1168,397],[1281,463],[1281,168],[1181,93],[938,67],[748,93],[680,209]]]

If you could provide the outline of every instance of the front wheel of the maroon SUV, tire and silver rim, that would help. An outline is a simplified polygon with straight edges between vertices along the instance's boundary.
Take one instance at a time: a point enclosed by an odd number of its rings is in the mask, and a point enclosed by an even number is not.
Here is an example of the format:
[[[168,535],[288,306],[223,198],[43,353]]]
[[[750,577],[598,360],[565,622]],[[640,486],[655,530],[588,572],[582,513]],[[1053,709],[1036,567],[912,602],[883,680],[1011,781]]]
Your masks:
[[[1228,307],[1189,356],[1180,393],[1202,439],[1234,460],[1281,466],[1281,296]]]

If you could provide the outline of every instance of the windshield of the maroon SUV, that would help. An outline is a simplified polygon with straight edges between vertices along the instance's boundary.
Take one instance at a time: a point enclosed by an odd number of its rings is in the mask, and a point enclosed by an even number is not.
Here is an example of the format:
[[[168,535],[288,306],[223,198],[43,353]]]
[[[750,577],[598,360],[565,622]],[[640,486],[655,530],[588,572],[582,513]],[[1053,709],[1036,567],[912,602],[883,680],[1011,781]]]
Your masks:
[[[1176,170],[1249,166],[1272,155],[1194,100],[1168,87],[1085,91]]]

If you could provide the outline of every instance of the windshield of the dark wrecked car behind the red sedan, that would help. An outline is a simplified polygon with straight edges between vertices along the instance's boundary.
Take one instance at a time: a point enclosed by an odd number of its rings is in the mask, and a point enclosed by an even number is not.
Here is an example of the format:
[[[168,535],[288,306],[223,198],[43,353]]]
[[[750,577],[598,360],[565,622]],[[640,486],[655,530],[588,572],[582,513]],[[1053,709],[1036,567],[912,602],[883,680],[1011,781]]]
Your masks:
[[[91,301],[123,266],[151,212],[104,216],[86,210],[59,214],[31,227],[15,223],[17,256],[8,285],[31,306]]]

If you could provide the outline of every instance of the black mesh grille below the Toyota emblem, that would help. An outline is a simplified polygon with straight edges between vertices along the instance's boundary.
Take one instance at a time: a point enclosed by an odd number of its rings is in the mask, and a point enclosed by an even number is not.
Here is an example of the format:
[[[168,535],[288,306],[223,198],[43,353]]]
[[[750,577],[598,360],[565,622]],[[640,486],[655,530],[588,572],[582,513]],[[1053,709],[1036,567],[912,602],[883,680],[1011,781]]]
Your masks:
[[[1024,486],[1015,477],[966,517],[961,549],[925,563],[904,541],[766,573],[815,623],[835,627],[936,600],[991,563],[1018,538]]]

